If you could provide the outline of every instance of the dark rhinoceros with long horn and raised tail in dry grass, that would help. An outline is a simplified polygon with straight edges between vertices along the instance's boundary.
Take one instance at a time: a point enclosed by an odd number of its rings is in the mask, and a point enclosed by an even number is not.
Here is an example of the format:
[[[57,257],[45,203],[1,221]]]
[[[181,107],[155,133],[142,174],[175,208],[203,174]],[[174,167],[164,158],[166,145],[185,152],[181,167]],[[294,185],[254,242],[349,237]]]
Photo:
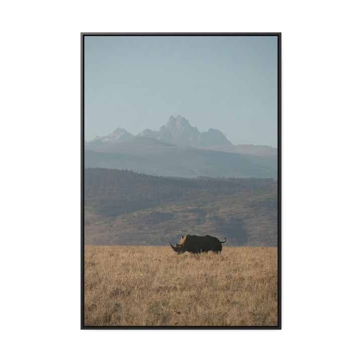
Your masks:
[[[224,238],[226,241],[226,238]],[[222,250],[222,243],[225,241],[220,241],[218,238],[210,235],[197,236],[187,234],[186,236],[181,237],[179,244],[175,243],[173,246],[170,242],[171,248],[178,254],[182,254],[185,251],[189,251],[193,254],[215,251],[217,253]]]

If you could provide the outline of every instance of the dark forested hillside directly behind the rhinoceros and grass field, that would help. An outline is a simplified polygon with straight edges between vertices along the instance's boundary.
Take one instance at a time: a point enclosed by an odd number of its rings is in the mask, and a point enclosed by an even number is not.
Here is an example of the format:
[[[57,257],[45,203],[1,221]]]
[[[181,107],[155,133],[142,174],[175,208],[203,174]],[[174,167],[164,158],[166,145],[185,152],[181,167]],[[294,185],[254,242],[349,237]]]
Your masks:
[[[84,171],[85,243],[165,245],[210,234],[227,245],[277,245],[277,181]]]

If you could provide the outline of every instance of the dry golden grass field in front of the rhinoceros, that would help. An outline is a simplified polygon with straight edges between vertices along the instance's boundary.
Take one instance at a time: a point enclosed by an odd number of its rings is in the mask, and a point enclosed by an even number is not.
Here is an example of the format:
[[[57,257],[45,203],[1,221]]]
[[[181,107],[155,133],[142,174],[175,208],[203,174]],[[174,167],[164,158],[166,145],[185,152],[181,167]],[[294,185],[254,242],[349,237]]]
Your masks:
[[[276,326],[276,247],[84,249],[85,326]]]

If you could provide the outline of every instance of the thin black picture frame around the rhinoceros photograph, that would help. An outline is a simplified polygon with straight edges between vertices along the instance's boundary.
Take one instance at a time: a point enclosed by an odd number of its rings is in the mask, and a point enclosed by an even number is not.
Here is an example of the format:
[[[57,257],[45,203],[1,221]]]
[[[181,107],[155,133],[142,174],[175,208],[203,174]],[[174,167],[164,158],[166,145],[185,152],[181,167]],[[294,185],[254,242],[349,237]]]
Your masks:
[[[276,326],[85,326],[84,325],[84,39],[87,36],[277,36],[278,37],[278,324]],[[81,33],[80,65],[80,329],[282,329],[282,33]]]

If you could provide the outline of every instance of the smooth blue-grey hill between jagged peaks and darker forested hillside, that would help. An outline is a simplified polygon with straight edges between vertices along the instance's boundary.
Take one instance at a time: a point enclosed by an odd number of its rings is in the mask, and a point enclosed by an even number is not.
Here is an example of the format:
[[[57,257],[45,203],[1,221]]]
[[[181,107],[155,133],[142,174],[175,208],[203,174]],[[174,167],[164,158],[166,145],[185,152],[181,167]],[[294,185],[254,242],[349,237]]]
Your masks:
[[[147,137],[86,149],[84,162],[86,168],[132,169],[158,176],[277,178],[276,157],[177,147]]]

